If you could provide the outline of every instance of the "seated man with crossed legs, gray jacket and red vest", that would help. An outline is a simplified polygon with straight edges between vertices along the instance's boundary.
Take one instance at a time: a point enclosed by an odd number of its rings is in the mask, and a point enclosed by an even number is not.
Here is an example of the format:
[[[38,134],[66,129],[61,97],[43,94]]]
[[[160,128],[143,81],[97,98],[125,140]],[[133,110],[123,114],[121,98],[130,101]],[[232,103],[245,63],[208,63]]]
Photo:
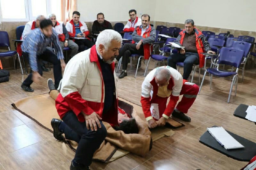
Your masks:
[[[118,76],[118,78],[124,78],[125,76],[127,76],[126,69],[131,54],[144,55],[144,58],[149,58],[150,56],[149,43],[155,41],[156,30],[153,26],[150,26],[150,16],[148,14],[143,14],[141,16],[141,21],[142,25],[137,26],[132,33],[132,43],[125,43],[123,47],[119,50],[119,55],[116,57],[116,60],[119,61],[120,58],[123,56],[123,71]]]

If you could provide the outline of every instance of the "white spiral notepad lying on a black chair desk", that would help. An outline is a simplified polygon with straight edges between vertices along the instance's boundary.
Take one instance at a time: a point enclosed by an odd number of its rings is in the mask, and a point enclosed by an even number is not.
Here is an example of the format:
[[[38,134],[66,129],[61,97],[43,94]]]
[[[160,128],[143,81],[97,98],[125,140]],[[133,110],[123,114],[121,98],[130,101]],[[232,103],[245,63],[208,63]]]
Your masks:
[[[212,127],[207,128],[207,130],[225,149],[244,148],[242,144],[237,142],[237,140],[229,135],[229,133],[222,127]]]

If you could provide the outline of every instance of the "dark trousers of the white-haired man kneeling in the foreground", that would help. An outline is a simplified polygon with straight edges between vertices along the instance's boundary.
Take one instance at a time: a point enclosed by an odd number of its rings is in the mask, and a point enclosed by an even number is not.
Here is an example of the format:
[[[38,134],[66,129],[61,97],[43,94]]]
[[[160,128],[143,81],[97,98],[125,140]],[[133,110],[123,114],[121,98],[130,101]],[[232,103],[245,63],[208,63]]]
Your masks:
[[[100,121],[101,128],[98,127],[97,131],[88,130],[86,123],[79,122],[73,111],[68,111],[62,120],[65,124],[65,138],[78,143],[74,160],[84,166],[90,166],[94,152],[100,148],[107,136],[107,129]]]

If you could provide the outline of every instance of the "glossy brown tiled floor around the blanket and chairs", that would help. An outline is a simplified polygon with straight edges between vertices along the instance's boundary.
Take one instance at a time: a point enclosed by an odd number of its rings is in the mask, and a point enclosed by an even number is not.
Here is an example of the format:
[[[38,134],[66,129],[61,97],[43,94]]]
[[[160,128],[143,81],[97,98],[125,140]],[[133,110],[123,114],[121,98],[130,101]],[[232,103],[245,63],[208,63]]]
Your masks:
[[[150,68],[153,68],[153,62]],[[118,80],[118,95],[140,105],[144,64],[137,78],[133,77],[134,69],[129,68],[128,77]],[[44,72],[40,83],[32,84],[35,89],[32,93],[20,88],[26,75],[22,76],[20,70],[10,72],[10,81],[0,83],[0,170],[69,169],[74,152],[11,106],[16,100],[48,92],[47,79],[53,78],[53,72]],[[218,125],[256,142],[256,125],[233,116],[240,103],[256,104],[255,78],[256,69],[249,66],[245,71],[244,82],[239,79],[237,96],[233,92],[228,104],[230,80],[213,78],[210,90],[209,76],[206,76],[203,89],[188,113],[192,122],[183,122],[185,126],[175,129],[174,136],[154,142],[153,149],[145,157],[128,154],[108,164],[93,162],[91,169],[240,169],[247,162],[228,158],[199,143],[198,139],[206,127]],[[194,80],[198,84],[197,74]]]

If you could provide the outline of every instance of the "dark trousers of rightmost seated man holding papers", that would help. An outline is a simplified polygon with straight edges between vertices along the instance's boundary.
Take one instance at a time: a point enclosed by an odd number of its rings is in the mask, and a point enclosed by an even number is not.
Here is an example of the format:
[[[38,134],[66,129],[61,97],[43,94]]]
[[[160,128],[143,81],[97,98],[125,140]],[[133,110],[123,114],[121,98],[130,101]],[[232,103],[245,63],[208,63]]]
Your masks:
[[[174,69],[176,69],[177,62],[184,63],[183,79],[187,80],[193,69],[193,64],[199,63],[199,55],[191,52],[186,52],[185,54],[177,53],[170,55],[167,59],[168,66]]]

